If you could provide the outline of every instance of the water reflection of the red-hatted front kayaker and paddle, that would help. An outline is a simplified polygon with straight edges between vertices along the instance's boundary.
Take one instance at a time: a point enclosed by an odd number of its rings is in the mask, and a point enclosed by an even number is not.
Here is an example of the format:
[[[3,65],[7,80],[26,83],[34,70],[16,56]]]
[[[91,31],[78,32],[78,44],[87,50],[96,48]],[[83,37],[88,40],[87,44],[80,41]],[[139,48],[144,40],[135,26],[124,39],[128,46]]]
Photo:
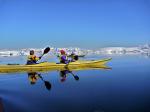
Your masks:
[[[79,80],[79,77],[77,75],[73,74],[72,71],[70,71],[70,70],[63,70],[63,71],[60,71],[60,81],[61,82],[66,81],[66,78],[69,75],[69,73],[72,74],[72,76],[74,77],[74,79],[76,81]]]

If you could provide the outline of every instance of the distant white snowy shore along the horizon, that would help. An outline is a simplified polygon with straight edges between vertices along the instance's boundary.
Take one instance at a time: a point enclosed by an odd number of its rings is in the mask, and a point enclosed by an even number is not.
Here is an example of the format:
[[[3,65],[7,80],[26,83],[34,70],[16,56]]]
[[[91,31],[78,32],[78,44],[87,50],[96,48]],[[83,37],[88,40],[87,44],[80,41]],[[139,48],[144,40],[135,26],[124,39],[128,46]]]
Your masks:
[[[0,56],[8,57],[8,56],[25,56],[29,54],[29,51],[33,49],[37,54],[42,54],[43,49],[41,48],[28,48],[28,49],[20,49],[20,50],[8,50],[8,49],[0,49]],[[64,49],[68,54],[71,52],[76,52],[79,55],[114,55],[114,54],[144,54],[150,56],[150,45],[145,44],[138,47],[105,47],[99,48],[96,50],[89,49],[81,49],[81,48],[53,48],[51,47],[51,52],[54,54],[58,54],[60,49]]]

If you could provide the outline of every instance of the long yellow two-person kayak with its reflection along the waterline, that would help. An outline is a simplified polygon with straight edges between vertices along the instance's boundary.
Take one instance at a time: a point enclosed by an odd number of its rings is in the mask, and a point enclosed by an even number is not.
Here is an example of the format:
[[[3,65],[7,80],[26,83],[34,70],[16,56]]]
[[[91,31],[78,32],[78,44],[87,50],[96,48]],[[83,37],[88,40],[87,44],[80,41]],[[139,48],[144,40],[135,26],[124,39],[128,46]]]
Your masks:
[[[105,64],[111,58],[92,61],[76,61],[69,64],[57,64],[54,62],[43,62],[35,65],[0,65],[0,73],[11,72],[38,72],[38,71],[53,71],[53,70],[80,70],[80,69],[109,69]]]

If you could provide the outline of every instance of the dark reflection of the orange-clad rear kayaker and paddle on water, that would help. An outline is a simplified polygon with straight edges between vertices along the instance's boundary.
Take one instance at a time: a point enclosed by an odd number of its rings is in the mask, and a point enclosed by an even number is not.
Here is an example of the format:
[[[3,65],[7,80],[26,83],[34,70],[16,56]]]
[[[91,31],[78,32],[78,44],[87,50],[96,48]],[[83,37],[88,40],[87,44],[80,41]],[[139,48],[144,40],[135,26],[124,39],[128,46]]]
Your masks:
[[[45,81],[43,79],[43,77],[41,76],[41,74],[38,74],[36,72],[28,73],[28,79],[29,79],[31,85],[36,84],[36,82],[39,78],[44,82],[46,89],[51,90],[51,87],[52,87],[51,83],[48,81]]]

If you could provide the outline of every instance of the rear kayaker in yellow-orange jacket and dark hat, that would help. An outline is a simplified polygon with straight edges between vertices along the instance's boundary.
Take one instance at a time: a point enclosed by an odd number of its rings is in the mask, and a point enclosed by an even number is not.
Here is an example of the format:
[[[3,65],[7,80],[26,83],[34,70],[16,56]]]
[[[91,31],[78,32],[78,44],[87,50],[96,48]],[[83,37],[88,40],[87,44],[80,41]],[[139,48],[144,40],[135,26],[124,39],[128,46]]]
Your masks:
[[[27,59],[27,65],[36,64],[36,62],[40,59],[41,57],[35,56],[34,50],[31,50],[30,55],[28,56],[28,59]]]

